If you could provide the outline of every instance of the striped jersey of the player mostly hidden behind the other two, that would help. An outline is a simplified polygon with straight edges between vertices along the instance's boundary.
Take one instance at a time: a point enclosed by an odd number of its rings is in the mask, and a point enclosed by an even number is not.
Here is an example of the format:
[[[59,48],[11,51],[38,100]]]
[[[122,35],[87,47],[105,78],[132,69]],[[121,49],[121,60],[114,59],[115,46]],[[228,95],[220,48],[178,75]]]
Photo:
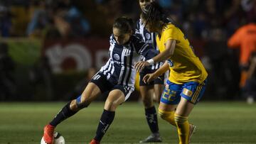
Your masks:
[[[137,35],[141,35],[141,38],[144,40],[145,43],[149,43],[150,45],[152,45],[152,47],[159,51],[159,48],[157,48],[156,45],[156,33],[149,33],[149,31],[146,30],[144,24],[142,23],[142,19],[140,18],[139,21],[137,21],[137,26],[135,29],[135,34]],[[149,57],[148,59],[150,59],[152,57]],[[142,60],[148,60],[146,57],[142,57]],[[161,67],[161,65],[163,65],[163,62],[157,62],[154,65],[151,65],[149,67],[146,67],[146,69],[149,70],[157,70],[159,69],[159,67]]]

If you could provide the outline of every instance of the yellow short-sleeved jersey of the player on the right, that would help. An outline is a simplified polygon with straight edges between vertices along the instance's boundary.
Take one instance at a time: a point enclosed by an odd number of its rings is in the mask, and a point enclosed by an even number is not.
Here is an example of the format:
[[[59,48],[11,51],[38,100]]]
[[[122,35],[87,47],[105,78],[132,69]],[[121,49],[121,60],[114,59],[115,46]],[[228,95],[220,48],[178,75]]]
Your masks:
[[[182,31],[168,23],[161,32],[161,37],[156,36],[156,44],[160,52],[165,50],[167,40],[176,40],[174,54],[169,58],[169,81],[175,84],[185,82],[203,82],[207,77],[206,69],[193,52],[188,39]]]

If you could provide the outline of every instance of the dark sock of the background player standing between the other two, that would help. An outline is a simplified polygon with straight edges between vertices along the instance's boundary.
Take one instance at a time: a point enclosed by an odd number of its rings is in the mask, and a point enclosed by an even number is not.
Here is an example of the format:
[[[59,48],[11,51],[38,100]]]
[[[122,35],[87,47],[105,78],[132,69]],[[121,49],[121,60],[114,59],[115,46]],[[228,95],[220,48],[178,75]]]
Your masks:
[[[146,121],[152,133],[159,133],[157,114],[155,107],[145,109]]]

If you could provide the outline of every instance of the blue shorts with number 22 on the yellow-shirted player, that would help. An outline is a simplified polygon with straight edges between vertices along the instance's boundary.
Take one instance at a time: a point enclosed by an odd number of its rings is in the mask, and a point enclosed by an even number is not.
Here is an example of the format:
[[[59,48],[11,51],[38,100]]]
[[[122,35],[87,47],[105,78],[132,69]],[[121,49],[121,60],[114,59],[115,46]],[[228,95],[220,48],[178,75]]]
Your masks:
[[[184,84],[174,84],[167,80],[164,88],[164,93],[161,96],[161,102],[164,104],[176,105],[181,101],[181,96],[193,104],[203,96],[206,89],[207,80],[202,83],[198,82],[186,82]]]

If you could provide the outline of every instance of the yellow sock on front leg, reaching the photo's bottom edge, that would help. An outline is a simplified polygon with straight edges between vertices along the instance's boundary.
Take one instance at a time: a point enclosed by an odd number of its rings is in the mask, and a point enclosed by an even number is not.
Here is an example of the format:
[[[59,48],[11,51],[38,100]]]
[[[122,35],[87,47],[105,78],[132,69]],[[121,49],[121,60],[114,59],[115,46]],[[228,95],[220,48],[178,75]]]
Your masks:
[[[179,144],[188,144],[189,124],[187,116],[174,114],[174,120],[177,125]]]

